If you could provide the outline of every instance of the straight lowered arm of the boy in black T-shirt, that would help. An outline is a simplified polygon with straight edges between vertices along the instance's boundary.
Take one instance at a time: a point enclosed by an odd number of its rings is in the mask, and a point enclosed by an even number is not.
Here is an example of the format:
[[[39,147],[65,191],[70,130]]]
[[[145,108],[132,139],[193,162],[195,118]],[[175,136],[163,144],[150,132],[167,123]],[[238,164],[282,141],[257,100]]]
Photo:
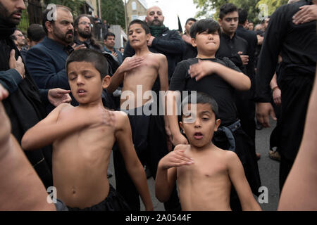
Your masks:
[[[178,103],[180,103],[180,91],[168,91],[167,94],[167,110],[168,125],[172,134],[172,143],[174,146],[179,144],[188,144],[187,139],[180,133],[178,126]]]

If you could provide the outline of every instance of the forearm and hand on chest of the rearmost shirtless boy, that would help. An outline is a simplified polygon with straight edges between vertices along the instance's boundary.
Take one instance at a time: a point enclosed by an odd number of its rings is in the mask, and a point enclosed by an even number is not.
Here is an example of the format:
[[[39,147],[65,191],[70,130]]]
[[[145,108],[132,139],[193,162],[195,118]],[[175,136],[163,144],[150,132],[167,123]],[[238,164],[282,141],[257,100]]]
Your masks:
[[[137,56],[125,58],[123,63],[119,66],[114,75],[111,77],[111,82],[106,88],[107,93],[112,94],[113,91],[116,91],[118,86],[123,82],[125,72],[137,68],[139,65],[141,65],[143,60],[143,57]]]

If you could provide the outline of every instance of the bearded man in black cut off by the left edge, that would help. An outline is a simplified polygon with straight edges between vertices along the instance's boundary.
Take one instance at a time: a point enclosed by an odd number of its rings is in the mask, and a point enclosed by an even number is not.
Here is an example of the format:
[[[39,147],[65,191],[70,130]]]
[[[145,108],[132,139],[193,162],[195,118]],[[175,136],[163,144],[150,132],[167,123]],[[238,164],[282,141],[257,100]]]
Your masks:
[[[18,143],[27,129],[46,116],[44,103],[57,106],[70,101],[68,91],[37,88],[10,38],[24,9],[23,0],[0,0],[0,84],[8,91],[3,104],[11,122],[11,133]],[[25,152],[25,155],[44,186],[52,186],[51,147]]]

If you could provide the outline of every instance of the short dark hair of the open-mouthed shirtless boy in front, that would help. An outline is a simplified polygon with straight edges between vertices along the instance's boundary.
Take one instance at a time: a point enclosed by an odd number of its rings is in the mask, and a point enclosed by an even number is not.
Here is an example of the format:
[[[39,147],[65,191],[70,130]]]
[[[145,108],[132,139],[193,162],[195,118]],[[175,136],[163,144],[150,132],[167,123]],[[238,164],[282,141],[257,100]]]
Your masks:
[[[182,108],[187,105],[191,104],[192,101],[194,101],[193,94],[190,94],[184,100],[182,101]],[[194,101],[195,104],[209,104],[211,107],[211,110],[213,110],[213,113],[215,113],[215,119],[218,119],[218,103],[216,100],[211,97],[209,94],[203,93],[203,92],[197,92],[196,94],[196,101]],[[182,110],[182,116],[184,115],[184,111]]]

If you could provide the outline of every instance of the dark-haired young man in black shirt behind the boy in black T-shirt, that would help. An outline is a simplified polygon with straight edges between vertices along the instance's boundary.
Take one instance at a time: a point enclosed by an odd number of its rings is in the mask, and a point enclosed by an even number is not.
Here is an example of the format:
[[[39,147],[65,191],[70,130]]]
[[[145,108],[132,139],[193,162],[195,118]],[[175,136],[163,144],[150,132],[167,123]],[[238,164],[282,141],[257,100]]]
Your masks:
[[[248,44],[246,39],[238,35],[236,31],[239,18],[240,15],[234,4],[224,4],[220,7],[219,24],[223,30],[223,34],[220,37],[220,47],[216,53],[216,57],[230,58],[230,60],[251,79],[251,84],[253,85],[251,85],[250,90],[235,91],[235,104],[237,106],[238,117],[241,120],[242,129],[250,136],[254,143],[252,151],[254,151],[255,154],[255,103],[252,99],[254,87],[254,71],[252,71],[254,70],[254,54],[252,54],[251,51],[254,51],[253,46],[256,37],[252,35],[252,43]],[[244,22],[245,20],[247,20],[247,18],[244,18]],[[242,25],[240,26],[244,30]],[[244,37],[249,37],[249,34],[244,34],[241,28],[239,33],[242,33]],[[250,46],[252,46],[252,48]]]

